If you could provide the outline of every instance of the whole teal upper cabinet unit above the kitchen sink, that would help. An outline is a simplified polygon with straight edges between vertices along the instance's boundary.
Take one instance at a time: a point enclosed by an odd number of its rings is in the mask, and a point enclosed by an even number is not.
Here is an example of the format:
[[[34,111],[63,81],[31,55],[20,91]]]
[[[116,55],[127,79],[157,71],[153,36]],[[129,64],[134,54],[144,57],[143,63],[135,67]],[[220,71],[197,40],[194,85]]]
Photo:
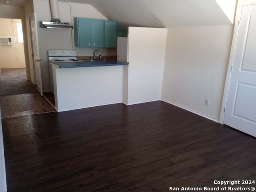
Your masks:
[[[117,37],[127,37],[127,32],[115,21],[74,18],[76,47],[117,47]]]

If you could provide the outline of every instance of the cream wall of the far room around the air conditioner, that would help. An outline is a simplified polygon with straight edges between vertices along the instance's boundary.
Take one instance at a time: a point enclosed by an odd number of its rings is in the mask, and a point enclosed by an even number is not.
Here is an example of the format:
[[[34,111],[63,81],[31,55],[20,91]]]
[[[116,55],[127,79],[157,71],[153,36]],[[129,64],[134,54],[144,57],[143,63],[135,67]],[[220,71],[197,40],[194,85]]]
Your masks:
[[[26,67],[24,45],[18,43],[17,35],[18,19],[2,19],[0,18],[0,36],[13,36],[15,41],[14,47],[0,46],[0,68],[24,68]]]

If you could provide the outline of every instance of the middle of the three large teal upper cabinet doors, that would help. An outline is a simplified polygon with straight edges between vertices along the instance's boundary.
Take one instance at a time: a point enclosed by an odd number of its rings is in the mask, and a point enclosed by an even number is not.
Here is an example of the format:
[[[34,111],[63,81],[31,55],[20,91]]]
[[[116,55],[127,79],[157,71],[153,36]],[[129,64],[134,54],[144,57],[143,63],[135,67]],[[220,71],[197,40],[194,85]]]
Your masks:
[[[92,47],[104,47],[104,21],[92,20]]]

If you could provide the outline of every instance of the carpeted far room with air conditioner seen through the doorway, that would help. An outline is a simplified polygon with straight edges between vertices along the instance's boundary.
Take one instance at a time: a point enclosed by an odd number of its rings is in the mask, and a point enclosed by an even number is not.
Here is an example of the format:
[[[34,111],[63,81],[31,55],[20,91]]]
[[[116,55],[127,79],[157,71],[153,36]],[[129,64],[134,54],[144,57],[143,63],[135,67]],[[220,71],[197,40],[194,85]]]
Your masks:
[[[0,18],[0,25],[0,96],[35,92],[26,73],[22,20]]]

